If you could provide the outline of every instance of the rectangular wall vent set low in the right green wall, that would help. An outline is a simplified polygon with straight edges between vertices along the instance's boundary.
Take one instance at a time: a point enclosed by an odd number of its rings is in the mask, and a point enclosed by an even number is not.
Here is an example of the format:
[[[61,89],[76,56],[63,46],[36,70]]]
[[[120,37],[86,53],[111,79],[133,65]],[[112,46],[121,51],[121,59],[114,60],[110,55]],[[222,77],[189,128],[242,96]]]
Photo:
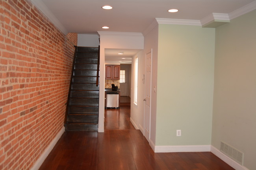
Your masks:
[[[243,152],[233,148],[232,146],[221,142],[221,149],[225,155],[236,161],[237,163],[243,165]]]

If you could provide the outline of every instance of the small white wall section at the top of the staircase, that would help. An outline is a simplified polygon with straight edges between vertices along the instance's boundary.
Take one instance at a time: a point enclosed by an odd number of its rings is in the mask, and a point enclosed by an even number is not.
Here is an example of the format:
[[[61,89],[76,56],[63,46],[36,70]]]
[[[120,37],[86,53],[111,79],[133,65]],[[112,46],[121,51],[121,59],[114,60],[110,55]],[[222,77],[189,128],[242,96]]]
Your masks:
[[[99,36],[96,34],[78,34],[77,46],[98,47],[100,45]]]

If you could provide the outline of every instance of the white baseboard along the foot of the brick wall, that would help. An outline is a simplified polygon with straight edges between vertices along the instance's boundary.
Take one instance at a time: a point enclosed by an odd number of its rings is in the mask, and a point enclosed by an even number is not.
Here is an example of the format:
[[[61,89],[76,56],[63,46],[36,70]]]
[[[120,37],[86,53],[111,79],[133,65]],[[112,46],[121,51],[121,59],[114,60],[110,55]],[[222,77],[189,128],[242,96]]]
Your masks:
[[[39,157],[39,159],[37,159],[37,161],[35,162],[34,166],[30,169],[30,170],[38,170],[40,168],[40,166],[43,164],[43,162],[45,161],[46,157],[50,154],[50,152],[52,151],[52,149],[54,148],[55,144],[59,141],[59,138],[61,137],[61,135],[65,132],[65,128],[63,126],[63,128],[59,131],[59,133],[56,135],[56,137],[54,137],[54,139],[52,140],[52,142],[49,144],[49,146],[45,149],[45,151],[43,152],[43,154]]]

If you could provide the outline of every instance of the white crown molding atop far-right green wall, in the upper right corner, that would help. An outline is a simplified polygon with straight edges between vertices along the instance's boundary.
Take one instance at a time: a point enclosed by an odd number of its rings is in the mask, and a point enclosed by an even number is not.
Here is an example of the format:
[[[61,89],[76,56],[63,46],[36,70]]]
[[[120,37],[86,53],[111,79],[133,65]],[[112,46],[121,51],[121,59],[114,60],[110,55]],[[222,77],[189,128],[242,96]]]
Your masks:
[[[254,9],[256,9],[256,0],[251,2],[250,4],[247,4],[241,8],[236,9],[235,11],[232,11],[228,15],[229,15],[230,20],[232,20],[238,16],[249,13],[250,11],[252,11]]]

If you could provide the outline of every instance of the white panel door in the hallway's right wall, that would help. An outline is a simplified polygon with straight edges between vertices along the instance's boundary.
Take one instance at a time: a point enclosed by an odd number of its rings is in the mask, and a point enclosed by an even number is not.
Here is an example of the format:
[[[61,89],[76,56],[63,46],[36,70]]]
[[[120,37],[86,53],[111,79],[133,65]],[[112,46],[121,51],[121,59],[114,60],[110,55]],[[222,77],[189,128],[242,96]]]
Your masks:
[[[144,136],[148,140],[150,139],[150,97],[151,97],[151,58],[152,52],[146,55],[146,76],[145,76],[145,124],[144,124]]]

